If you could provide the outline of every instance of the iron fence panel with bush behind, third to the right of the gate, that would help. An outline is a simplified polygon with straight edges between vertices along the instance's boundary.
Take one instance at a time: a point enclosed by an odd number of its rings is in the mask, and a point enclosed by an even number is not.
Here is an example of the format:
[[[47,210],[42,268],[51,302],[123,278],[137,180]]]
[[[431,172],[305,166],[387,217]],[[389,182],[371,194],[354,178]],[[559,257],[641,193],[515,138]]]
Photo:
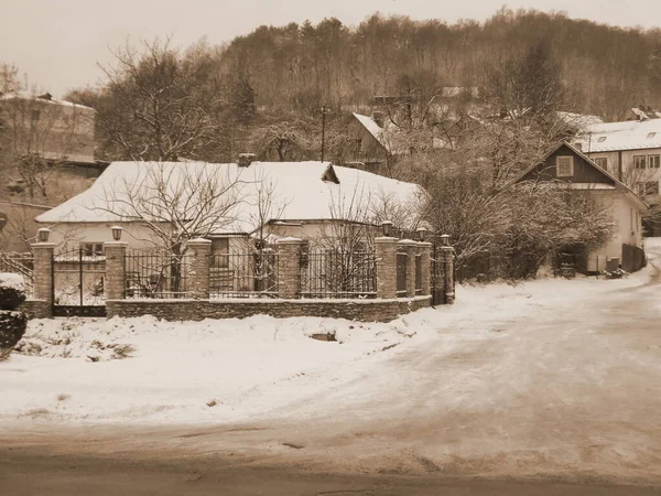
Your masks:
[[[376,298],[377,257],[373,250],[316,250],[301,256],[302,298]]]

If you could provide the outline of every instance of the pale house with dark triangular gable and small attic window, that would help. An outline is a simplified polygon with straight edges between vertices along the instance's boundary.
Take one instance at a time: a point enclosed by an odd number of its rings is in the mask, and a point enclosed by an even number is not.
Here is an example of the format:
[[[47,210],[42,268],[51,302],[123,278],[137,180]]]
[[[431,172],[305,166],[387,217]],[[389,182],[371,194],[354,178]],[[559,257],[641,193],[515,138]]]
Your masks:
[[[539,163],[524,171],[517,181],[562,181],[571,188],[590,195],[598,205],[607,207],[616,226],[613,236],[604,246],[589,254],[575,248],[577,252],[574,255],[582,261],[582,271],[605,270],[613,260],[627,271],[641,268],[642,215],[648,208],[647,204],[581,150],[570,143],[561,143]]]

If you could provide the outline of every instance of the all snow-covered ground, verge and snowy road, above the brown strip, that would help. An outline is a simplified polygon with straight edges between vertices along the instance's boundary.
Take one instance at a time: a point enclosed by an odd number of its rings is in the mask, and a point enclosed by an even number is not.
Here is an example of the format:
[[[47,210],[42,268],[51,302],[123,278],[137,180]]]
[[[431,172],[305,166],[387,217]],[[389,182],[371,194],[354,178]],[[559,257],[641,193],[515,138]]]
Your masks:
[[[33,321],[0,363],[0,425],[278,423],[306,456],[366,470],[661,479],[660,241],[625,279],[458,287],[388,324]]]

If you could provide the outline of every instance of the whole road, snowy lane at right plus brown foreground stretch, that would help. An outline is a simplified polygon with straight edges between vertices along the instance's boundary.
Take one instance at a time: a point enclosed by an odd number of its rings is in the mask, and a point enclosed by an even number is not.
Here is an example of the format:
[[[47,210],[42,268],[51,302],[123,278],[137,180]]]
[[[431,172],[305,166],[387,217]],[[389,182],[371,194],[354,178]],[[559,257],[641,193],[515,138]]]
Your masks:
[[[640,284],[522,293],[256,422],[17,424],[2,494],[661,494],[659,251]]]

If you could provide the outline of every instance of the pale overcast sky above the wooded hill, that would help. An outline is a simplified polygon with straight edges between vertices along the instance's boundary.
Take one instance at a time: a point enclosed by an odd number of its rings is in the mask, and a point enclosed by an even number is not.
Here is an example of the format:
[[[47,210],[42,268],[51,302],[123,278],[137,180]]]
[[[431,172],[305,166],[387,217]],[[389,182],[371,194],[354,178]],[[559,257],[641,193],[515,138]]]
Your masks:
[[[230,41],[260,24],[283,25],[336,17],[355,25],[369,14],[413,19],[484,21],[510,8],[566,11],[573,18],[614,25],[653,28],[661,23],[661,0],[0,0],[0,62],[13,63],[31,84],[56,97],[94,84],[109,48],[127,37],[139,41],[173,34],[186,46],[207,36]]]

